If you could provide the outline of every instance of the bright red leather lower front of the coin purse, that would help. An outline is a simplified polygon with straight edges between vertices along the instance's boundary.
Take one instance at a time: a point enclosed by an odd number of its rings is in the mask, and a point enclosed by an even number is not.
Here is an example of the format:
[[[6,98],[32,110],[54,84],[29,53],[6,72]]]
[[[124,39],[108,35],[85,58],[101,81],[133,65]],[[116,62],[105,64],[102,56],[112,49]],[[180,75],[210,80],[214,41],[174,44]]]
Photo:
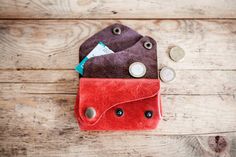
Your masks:
[[[162,116],[158,79],[81,78],[79,84],[75,113],[81,130],[150,130]],[[88,107],[97,112],[93,119],[85,116]],[[151,118],[145,117],[148,110]]]

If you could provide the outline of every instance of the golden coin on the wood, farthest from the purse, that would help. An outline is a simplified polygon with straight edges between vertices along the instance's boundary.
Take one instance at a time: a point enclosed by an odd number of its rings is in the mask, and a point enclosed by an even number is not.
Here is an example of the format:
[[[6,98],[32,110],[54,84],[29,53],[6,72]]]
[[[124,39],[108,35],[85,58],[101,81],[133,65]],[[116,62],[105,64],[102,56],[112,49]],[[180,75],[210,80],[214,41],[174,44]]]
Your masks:
[[[179,62],[179,61],[183,60],[183,58],[185,56],[185,52],[181,47],[175,46],[175,47],[171,48],[169,55],[173,61]]]

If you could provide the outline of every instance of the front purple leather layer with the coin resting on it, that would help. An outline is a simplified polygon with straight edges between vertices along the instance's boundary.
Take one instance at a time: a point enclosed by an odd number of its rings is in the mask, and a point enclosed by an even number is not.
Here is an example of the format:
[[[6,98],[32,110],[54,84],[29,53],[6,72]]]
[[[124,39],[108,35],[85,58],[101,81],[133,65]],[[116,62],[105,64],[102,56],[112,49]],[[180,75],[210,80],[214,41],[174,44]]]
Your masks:
[[[145,48],[150,42],[152,47]],[[112,54],[89,59],[84,65],[84,77],[89,78],[132,78],[129,66],[141,62],[146,66],[143,78],[158,78],[156,42],[150,37],[143,37],[131,47]]]

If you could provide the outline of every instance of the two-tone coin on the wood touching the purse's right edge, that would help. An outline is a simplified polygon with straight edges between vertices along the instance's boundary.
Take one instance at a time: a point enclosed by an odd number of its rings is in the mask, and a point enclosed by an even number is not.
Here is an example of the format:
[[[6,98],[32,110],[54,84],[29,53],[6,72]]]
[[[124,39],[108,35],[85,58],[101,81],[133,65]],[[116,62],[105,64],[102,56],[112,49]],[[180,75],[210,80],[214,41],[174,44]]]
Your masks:
[[[170,67],[163,67],[160,71],[160,78],[163,82],[171,82],[175,79],[175,71]]]

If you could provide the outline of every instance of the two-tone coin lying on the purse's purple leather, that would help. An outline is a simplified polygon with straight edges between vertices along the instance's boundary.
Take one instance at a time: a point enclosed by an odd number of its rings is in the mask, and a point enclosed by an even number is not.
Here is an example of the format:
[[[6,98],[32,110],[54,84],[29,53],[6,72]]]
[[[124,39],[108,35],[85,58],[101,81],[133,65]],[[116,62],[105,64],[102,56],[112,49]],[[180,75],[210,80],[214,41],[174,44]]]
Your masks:
[[[129,73],[133,77],[143,77],[146,71],[146,66],[141,62],[134,62],[129,66]]]

